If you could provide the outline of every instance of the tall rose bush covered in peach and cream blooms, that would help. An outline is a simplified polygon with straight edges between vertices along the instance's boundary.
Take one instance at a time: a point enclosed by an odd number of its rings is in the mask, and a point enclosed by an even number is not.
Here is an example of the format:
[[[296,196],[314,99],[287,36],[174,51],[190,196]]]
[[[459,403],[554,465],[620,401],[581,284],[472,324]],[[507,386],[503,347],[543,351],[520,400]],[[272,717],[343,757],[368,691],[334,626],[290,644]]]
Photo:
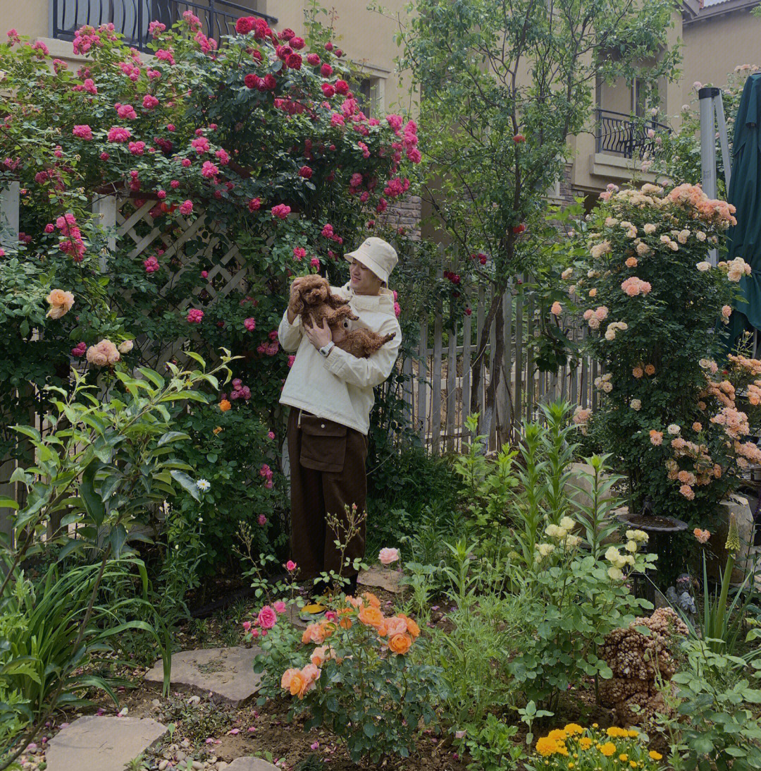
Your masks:
[[[563,274],[605,370],[594,384],[599,409],[575,420],[585,429],[591,421],[629,475],[635,510],[651,496],[658,513],[702,524],[761,456],[715,361],[734,287],[749,271],[741,259],[708,261],[733,207],[688,184],[611,186],[602,198],[588,257]]]

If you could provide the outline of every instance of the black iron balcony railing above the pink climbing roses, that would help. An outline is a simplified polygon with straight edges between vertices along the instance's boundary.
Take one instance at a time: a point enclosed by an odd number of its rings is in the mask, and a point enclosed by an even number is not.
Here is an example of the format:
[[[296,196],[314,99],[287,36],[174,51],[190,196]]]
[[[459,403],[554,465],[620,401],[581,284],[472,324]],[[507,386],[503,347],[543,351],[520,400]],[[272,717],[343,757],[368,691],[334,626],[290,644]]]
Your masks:
[[[186,11],[200,19],[203,32],[217,42],[223,35],[235,32],[235,22],[241,16],[260,16],[267,24],[277,24],[274,16],[253,11],[245,5],[227,0],[50,0],[52,3],[53,37],[73,40],[75,30],[89,24],[97,27],[112,23],[125,42],[147,51],[150,41],[148,25],[162,22],[167,29],[183,18]]]

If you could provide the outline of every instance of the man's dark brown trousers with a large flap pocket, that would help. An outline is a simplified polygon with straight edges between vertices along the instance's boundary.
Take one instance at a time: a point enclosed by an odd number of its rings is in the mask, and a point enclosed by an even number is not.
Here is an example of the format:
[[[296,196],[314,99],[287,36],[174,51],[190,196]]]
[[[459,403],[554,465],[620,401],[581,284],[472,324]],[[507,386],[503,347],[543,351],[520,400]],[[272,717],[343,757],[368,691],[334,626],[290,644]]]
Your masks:
[[[327,527],[325,515],[337,514],[346,527],[346,509],[353,503],[364,511],[367,503],[367,436],[356,429],[318,418],[291,407],[288,417],[290,459],[290,550],[303,577],[341,569],[334,541],[345,540]],[[364,557],[365,524],[344,553]],[[351,578],[356,571],[341,571]]]

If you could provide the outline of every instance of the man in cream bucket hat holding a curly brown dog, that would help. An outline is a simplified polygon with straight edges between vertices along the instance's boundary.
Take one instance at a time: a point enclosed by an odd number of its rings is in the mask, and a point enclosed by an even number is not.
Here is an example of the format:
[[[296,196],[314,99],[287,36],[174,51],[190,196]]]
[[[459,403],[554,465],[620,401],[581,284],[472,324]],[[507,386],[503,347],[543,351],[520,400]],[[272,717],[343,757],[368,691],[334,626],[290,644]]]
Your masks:
[[[283,314],[278,337],[296,359],[280,396],[290,406],[291,557],[306,577],[339,572],[350,579],[348,594],[356,594],[357,573],[344,570],[334,540],[342,538],[327,527],[326,514],[346,524],[346,508],[356,504],[364,512],[367,498],[367,431],[374,403],[373,389],[381,385],[397,359],[401,328],[394,312],[394,294],[387,283],[397,253],[382,238],[370,237],[345,254],[350,281],[335,294],[349,300],[359,317],[350,328],[365,328],[394,338],[367,359],[337,348],[324,322],[321,328],[303,325],[289,308]],[[291,285],[291,300],[300,279]],[[348,545],[344,558],[364,557],[364,521]],[[324,589],[325,587],[320,587]],[[317,594],[320,594],[320,590]]]

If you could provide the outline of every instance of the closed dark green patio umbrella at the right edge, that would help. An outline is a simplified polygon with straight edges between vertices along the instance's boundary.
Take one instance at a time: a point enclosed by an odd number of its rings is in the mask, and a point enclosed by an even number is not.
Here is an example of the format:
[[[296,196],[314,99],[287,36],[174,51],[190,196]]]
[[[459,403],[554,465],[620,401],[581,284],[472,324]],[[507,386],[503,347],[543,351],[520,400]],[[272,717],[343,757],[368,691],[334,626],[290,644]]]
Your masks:
[[[761,73],[749,76],[735,121],[729,203],[737,224],[729,228],[728,260],[742,257],[752,269],[740,281],[746,302],[739,302],[729,325],[733,344],[745,329],[761,330]]]

